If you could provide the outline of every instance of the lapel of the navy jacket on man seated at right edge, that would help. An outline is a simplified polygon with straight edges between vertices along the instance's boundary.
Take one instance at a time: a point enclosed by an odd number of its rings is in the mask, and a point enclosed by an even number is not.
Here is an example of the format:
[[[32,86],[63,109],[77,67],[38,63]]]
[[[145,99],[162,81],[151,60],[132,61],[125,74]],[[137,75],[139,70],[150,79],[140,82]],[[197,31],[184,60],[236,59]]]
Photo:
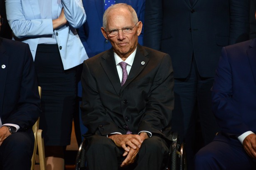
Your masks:
[[[254,81],[256,84],[256,39],[254,39],[251,42],[250,46],[252,48],[247,50],[247,56],[248,56],[249,64],[251,66],[251,70],[254,76]]]

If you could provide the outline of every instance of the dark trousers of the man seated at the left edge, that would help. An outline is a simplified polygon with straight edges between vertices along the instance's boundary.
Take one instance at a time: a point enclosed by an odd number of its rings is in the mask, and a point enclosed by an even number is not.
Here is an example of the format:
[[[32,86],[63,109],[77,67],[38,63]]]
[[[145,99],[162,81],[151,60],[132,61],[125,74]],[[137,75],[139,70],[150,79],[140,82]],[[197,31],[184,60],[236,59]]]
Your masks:
[[[0,170],[30,170],[34,142],[32,130],[8,136],[0,146]]]

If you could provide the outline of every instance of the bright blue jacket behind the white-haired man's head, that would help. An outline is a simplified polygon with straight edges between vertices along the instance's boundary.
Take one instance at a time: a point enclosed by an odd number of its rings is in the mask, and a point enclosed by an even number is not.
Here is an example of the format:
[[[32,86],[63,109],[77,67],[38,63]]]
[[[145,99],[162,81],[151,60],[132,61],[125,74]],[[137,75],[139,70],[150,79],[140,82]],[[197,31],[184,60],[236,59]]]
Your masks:
[[[127,3],[137,12],[139,21],[144,23],[145,0],[116,0],[116,3]],[[83,0],[86,22],[78,29],[79,37],[88,57],[104,52],[112,47],[104,38],[100,28],[103,26],[104,0]],[[143,30],[139,36],[139,44],[143,45]]]

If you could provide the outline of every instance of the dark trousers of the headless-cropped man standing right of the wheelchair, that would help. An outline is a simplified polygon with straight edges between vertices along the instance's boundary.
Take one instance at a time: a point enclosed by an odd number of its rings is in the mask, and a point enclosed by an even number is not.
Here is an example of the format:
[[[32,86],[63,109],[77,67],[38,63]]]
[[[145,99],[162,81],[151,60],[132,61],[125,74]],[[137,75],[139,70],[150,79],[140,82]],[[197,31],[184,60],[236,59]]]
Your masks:
[[[186,79],[174,79],[175,102],[172,112],[172,130],[177,132],[181,141],[186,144],[188,170],[193,170],[194,154],[198,148],[210,143],[219,131],[211,110],[213,81],[212,77],[200,77],[194,62]],[[201,129],[199,132],[196,131],[198,122],[201,126],[199,126]]]

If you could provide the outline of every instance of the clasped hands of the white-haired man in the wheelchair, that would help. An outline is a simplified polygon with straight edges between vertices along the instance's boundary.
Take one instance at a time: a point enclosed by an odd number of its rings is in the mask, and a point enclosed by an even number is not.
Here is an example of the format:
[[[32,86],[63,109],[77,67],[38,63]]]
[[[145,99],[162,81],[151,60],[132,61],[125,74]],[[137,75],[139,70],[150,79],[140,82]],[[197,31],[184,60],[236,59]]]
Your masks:
[[[147,136],[147,133],[142,132],[139,135],[113,134],[113,135],[110,135],[108,138],[112,139],[118,147],[124,149],[123,156],[126,156],[126,158],[121,164],[121,167],[124,167],[134,163],[136,155],[139,152],[139,149],[141,147],[141,144],[145,139],[148,138],[148,136]]]

